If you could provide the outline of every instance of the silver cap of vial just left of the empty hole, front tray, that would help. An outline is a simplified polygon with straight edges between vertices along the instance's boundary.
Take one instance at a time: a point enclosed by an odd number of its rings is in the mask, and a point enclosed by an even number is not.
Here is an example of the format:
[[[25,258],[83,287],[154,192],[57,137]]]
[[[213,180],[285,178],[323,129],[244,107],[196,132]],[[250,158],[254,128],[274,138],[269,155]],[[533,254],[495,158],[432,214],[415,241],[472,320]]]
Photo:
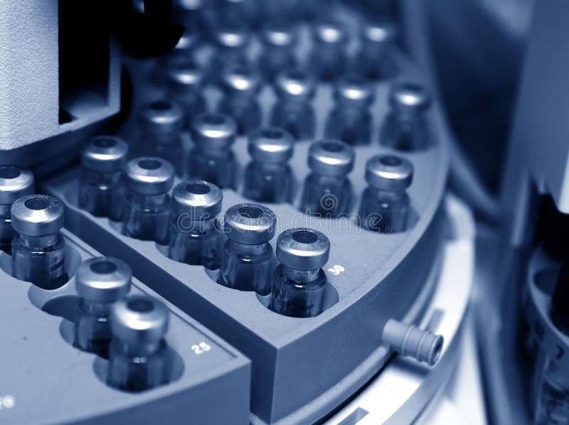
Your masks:
[[[21,235],[40,237],[53,235],[63,227],[65,208],[58,198],[27,195],[11,207],[12,227]]]

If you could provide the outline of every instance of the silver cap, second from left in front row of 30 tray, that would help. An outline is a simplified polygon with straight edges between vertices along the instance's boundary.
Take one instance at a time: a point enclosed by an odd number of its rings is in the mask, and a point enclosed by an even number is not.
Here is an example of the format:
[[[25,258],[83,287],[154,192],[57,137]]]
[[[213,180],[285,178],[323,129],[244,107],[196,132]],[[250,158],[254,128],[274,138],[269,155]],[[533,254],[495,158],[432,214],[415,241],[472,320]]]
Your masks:
[[[124,168],[127,186],[142,195],[161,195],[174,185],[174,167],[156,156],[140,156]]]

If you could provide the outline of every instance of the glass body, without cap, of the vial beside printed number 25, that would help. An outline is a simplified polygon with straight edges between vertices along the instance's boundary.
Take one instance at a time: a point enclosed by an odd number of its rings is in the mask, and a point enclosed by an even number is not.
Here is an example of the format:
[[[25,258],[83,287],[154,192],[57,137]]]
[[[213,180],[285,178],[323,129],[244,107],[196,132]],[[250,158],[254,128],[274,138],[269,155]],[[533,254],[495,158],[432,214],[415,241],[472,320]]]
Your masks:
[[[125,391],[144,391],[168,382],[167,348],[164,340],[145,350],[132,350],[113,339],[109,348],[107,384]]]

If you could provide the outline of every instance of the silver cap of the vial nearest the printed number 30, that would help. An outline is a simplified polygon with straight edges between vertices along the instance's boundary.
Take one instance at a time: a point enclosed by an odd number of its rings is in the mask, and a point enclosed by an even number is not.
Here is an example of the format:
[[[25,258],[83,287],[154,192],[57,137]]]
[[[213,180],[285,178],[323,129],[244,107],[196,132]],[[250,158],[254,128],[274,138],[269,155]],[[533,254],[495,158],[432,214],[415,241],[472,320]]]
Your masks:
[[[307,227],[287,229],[277,239],[277,258],[290,269],[316,270],[330,255],[330,241]]]

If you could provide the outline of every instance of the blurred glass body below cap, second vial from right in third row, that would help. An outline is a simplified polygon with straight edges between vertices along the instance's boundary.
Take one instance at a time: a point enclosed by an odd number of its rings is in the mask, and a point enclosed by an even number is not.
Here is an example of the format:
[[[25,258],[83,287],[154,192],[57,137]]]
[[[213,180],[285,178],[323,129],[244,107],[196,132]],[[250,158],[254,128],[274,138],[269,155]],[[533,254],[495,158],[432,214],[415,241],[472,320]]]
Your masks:
[[[334,107],[324,134],[351,145],[367,144],[371,137],[371,114],[366,109]]]

